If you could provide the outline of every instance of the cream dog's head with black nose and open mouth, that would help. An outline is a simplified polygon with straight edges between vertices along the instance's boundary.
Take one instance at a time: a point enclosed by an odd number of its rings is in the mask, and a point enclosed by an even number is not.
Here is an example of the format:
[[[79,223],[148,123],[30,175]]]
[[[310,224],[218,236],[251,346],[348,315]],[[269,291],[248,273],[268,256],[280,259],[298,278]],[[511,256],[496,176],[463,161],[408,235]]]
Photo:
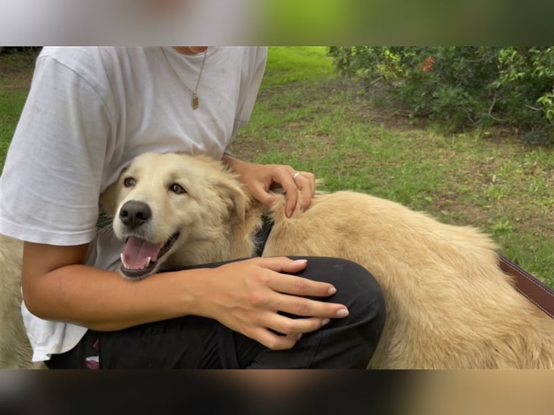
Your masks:
[[[120,272],[141,279],[179,246],[220,237],[225,225],[242,221],[247,196],[218,161],[148,153],[134,158],[100,202],[125,241]]]

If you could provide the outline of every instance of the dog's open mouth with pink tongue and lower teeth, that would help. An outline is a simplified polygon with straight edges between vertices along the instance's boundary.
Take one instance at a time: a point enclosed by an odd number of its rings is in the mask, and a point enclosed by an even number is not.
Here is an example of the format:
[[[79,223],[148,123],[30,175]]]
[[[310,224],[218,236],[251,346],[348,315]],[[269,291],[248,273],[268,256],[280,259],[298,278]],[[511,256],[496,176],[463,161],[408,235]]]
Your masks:
[[[175,232],[163,245],[137,237],[127,238],[121,253],[121,273],[129,278],[140,278],[149,275],[156,268],[159,259],[166,255],[178,237],[179,232]]]

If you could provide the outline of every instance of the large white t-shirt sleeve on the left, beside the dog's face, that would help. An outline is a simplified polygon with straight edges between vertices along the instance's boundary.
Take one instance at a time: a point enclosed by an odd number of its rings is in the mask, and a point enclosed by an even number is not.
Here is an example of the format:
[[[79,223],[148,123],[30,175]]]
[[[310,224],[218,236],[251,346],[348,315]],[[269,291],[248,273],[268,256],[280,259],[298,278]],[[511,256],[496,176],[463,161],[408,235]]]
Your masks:
[[[39,57],[0,177],[0,232],[52,245],[91,241],[112,125],[93,83]]]

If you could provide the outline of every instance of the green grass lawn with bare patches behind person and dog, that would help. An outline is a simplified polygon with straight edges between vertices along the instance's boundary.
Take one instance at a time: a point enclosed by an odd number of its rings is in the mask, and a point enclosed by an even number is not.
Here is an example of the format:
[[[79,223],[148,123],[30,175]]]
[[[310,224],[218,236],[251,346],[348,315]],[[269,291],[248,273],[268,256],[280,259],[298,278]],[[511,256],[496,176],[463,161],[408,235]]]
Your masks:
[[[33,55],[0,55],[0,160],[24,104]],[[475,225],[554,288],[554,153],[516,138],[440,133],[334,74],[325,48],[273,47],[249,124],[233,151],[286,163],[350,189]]]

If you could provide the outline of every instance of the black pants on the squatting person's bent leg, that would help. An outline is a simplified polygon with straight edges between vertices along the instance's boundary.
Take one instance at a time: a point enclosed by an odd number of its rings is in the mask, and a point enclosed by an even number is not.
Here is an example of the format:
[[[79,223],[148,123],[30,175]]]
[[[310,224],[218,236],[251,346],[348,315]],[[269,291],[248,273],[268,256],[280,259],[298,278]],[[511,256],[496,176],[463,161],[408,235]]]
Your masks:
[[[120,331],[89,330],[71,351],[52,356],[46,365],[51,369],[365,369],[386,314],[373,276],[352,261],[328,257],[307,257],[305,270],[297,275],[333,284],[337,293],[318,299],[344,304],[350,315],[305,333],[292,349],[273,351],[215,320],[186,316]],[[94,365],[95,355],[99,365]]]

